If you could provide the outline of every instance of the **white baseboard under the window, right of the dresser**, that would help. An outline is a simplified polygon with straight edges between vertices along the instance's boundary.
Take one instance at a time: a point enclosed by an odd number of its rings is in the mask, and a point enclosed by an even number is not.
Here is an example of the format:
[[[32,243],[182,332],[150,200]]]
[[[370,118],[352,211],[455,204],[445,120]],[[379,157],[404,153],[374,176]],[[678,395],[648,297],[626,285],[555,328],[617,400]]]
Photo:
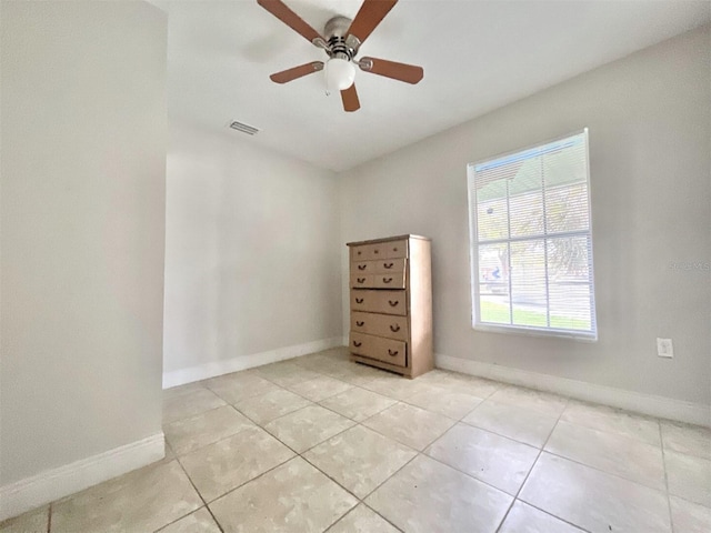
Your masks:
[[[443,355],[441,353],[434,354],[434,362],[438,369],[453,370],[455,372],[488,378],[514,385],[554,392],[577,400],[601,403],[650,416],[711,426],[710,405],[625,391],[612,386],[597,385],[594,383],[569,380],[555,375],[539,374],[537,372],[512,369],[510,366],[452,358],[451,355]]]

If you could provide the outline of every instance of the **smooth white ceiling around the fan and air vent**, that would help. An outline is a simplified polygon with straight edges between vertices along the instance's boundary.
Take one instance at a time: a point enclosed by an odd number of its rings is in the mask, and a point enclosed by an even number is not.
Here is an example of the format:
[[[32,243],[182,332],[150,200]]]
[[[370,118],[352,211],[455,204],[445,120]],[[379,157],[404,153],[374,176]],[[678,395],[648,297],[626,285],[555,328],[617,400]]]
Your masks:
[[[359,57],[420,64],[417,86],[358,71],[361,109],[322,72],[269,74],[326,53],[256,0],[152,1],[169,13],[169,114],[336,171],[392,152],[711,21],[703,1],[400,0]],[[317,31],[360,0],[286,0]],[[259,128],[253,138],[227,129]]]

